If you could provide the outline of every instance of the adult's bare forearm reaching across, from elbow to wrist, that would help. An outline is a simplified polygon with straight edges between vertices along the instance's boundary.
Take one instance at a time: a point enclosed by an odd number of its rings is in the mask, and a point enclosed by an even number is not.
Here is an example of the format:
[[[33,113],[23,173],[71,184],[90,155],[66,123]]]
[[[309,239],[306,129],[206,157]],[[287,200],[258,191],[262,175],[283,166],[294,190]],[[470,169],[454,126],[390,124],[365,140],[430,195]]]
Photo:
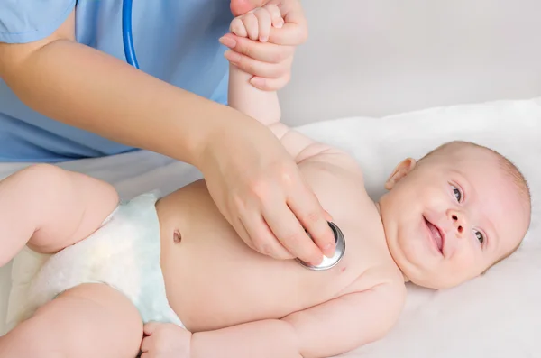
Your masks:
[[[7,85],[41,114],[192,164],[211,133],[253,121],[75,41],[52,41],[7,66]]]

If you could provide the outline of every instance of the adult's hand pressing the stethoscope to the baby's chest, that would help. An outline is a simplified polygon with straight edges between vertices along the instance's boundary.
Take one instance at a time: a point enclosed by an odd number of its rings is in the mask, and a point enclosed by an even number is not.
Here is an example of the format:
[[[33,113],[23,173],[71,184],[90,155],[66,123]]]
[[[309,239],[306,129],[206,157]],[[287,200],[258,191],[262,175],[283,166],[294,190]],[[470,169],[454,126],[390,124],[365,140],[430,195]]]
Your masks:
[[[276,136],[250,117],[242,122],[216,131],[197,162],[216,207],[253,250],[321,263],[335,252],[332,217]]]

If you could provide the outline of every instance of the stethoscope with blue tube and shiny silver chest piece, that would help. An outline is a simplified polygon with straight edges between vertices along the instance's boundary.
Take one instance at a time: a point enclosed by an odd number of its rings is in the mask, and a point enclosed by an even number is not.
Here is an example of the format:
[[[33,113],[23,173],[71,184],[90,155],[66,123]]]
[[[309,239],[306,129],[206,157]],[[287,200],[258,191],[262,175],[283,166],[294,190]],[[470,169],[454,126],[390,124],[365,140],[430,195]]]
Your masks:
[[[122,4],[122,39],[124,42],[124,55],[126,61],[132,65],[135,69],[139,69],[139,63],[137,62],[137,56],[135,56],[135,49],[133,48],[133,34],[132,34],[132,4],[133,0],[123,0]],[[298,263],[306,267],[307,269],[314,271],[329,270],[342,260],[345,252],[345,239],[342,231],[334,223],[328,222],[329,226],[335,234],[336,250],[333,257],[325,257],[323,261],[318,265],[311,265],[302,260],[296,259]]]

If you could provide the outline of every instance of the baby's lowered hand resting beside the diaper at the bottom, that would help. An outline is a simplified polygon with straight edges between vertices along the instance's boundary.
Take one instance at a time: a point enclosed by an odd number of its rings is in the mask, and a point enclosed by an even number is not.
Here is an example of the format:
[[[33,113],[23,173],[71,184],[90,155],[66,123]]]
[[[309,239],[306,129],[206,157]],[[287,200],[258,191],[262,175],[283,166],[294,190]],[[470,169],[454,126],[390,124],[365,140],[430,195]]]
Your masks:
[[[189,358],[191,333],[170,323],[151,322],[143,327],[141,358]]]

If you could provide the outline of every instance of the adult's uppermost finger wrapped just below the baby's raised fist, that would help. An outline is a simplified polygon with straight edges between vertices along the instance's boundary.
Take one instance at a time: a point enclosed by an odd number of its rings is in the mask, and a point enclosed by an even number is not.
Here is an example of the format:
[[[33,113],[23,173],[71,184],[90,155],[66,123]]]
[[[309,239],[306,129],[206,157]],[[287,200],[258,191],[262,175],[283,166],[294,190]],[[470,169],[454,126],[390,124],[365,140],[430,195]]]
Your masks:
[[[233,33],[220,39],[225,46],[253,60],[267,63],[280,63],[289,60],[295,53],[295,47],[276,45],[269,42],[252,41]]]

